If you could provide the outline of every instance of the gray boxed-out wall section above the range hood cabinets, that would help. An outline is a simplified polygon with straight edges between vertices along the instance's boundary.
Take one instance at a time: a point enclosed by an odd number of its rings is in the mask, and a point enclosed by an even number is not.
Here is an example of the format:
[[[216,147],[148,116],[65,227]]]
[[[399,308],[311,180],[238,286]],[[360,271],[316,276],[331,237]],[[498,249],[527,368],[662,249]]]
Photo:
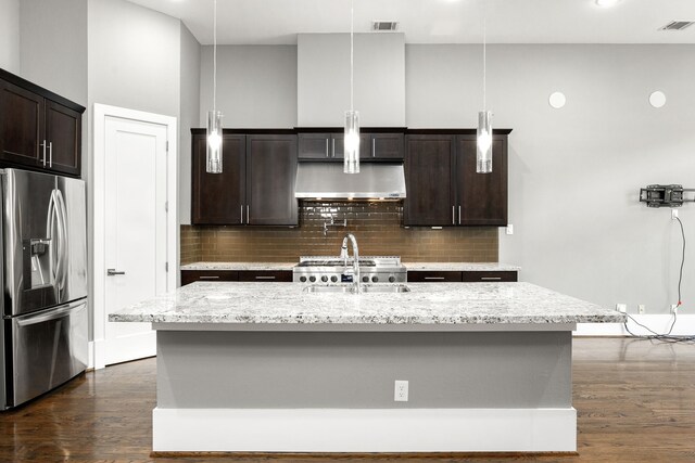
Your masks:
[[[405,125],[405,36],[354,35],[354,108],[362,127]],[[342,127],[350,110],[350,34],[298,35],[300,127]]]

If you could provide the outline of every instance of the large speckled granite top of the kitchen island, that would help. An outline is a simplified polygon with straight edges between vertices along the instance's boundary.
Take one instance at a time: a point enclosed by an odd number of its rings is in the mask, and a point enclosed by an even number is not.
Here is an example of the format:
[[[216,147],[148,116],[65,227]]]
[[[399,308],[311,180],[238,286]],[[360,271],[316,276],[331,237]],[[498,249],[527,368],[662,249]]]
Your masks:
[[[624,314],[530,283],[408,283],[403,294],[312,294],[299,283],[198,282],[110,321],[160,323],[606,323]]]

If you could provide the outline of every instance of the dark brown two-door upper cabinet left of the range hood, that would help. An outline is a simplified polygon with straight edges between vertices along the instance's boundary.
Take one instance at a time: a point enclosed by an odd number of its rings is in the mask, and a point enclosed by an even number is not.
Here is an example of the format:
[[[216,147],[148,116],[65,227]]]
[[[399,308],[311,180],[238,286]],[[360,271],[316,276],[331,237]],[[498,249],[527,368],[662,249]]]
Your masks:
[[[223,172],[206,173],[205,130],[191,131],[193,224],[299,223],[295,134],[225,133]]]

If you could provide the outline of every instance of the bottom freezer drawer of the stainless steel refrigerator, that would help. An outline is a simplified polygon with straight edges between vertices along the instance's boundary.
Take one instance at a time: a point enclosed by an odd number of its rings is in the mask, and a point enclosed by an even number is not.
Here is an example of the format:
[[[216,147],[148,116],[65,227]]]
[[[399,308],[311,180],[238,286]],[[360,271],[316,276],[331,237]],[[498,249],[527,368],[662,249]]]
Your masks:
[[[5,364],[7,407],[51,390],[87,368],[87,299],[4,323],[11,323],[12,333],[12,364]]]

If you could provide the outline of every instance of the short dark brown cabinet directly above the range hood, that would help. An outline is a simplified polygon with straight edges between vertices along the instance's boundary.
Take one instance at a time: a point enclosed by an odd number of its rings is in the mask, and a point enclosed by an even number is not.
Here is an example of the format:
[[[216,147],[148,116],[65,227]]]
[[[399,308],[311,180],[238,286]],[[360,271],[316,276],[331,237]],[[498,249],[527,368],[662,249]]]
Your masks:
[[[379,129],[370,129],[379,130]],[[372,132],[369,129],[359,133],[359,160],[403,160],[404,134],[401,131],[390,132],[381,129]],[[344,132],[339,131],[300,131],[299,159],[342,162],[344,158]]]

